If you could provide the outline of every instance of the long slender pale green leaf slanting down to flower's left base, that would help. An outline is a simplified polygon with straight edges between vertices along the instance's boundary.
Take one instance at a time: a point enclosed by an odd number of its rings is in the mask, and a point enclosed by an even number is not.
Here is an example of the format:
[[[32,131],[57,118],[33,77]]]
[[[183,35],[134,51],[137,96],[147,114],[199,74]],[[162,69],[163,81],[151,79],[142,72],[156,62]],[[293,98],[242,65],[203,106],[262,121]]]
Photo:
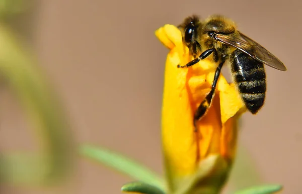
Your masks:
[[[159,187],[160,189],[164,188],[163,179],[155,174],[152,170],[126,156],[122,156],[119,153],[103,147],[95,147],[92,145],[82,145],[80,147],[80,153],[83,156],[94,159],[105,164],[106,166],[123,172],[136,180],[146,182]]]

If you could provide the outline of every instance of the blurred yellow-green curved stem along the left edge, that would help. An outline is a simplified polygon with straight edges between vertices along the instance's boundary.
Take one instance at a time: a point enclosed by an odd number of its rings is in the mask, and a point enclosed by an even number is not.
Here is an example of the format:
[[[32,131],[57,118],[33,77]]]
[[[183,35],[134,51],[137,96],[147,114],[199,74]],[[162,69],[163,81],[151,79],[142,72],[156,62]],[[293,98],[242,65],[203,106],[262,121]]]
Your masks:
[[[73,142],[61,105],[38,68],[25,41],[6,18],[25,11],[30,1],[0,0],[0,74],[16,96],[38,137],[38,153],[3,153],[0,158],[2,182],[45,185],[57,182],[72,167]],[[18,153],[19,152],[19,153]]]

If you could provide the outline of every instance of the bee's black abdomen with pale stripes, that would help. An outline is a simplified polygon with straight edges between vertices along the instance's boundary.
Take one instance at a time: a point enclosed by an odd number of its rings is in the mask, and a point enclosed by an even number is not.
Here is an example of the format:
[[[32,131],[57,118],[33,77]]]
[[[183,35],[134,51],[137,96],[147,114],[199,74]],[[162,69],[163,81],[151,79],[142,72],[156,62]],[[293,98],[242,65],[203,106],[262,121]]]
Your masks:
[[[241,97],[249,111],[256,114],[264,104],[266,92],[263,63],[240,50],[234,51],[231,60],[232,74]]]

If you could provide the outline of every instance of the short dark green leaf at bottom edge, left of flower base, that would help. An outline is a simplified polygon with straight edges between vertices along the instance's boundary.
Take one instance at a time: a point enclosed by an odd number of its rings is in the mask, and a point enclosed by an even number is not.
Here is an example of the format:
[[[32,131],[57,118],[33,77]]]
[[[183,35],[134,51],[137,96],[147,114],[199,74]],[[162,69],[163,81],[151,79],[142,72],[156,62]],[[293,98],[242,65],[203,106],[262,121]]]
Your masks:
[[[165,194],[162,189],[140,181],[127,183],[122,186],[121,190],[125,192],[140,192],[145,194]]]

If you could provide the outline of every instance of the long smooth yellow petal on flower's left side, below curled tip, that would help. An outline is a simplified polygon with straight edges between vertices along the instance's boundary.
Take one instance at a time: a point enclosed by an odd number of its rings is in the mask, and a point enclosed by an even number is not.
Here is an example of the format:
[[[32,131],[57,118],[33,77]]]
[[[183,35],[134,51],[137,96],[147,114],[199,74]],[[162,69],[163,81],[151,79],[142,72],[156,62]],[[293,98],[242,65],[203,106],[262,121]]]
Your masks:
[[[171,168],[190,173],[196,164],[196,141],[192,131],[192,109],[186,89],[186,69],[179,71],[178,52],[171,51],[167,58],[162,107],[162,137],[166,158]],[[175,65],[176,64],[176,65]],[[190,115],[190,116],[188,116]],[[182,156],[182,157],[180,157]],[[176,171],[174,171],[176,172]]]

